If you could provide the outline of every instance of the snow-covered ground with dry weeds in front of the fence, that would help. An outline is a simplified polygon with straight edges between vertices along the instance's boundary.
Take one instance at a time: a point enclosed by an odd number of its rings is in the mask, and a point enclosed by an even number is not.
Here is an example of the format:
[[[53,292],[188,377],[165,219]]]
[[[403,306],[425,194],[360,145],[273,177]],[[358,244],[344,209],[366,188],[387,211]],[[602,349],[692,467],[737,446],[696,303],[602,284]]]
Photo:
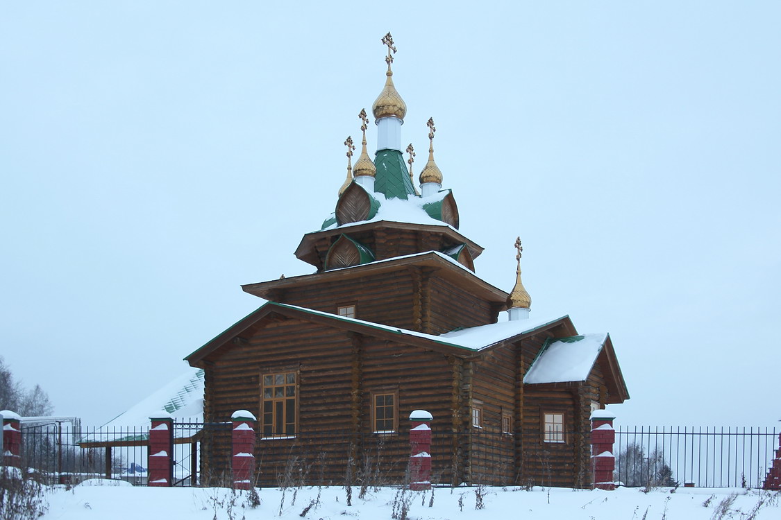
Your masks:
[[[212,520],[214,518],[394,518],[394,512],[408,504],[410,520],[444,518],[533,518],[535,520],[777,520],[781,518],[781,492],[736,489],[658,488],[643,493],[637,488],[615,491],[565,490],[510,487],[437,488],[433,493],[405,492],[386,487],[358,498],[353,488],[352,506],[341,487],[259,490],[260,504],[251,508],[248,492],[223,488],[149,488],[127,483],[115,486],[90,485],[87,481],[71,490],[47,494],[44,520]],[[123,485],[124,484],[124,485]],[[318,493],[319,503],[317,503]],[[476,509],[483,495],[483,508]],[[308,506],[311,506],[308,508]],[[308,511],[302,515],[305,508]],[[398,517],[398,515],[397,515]]]

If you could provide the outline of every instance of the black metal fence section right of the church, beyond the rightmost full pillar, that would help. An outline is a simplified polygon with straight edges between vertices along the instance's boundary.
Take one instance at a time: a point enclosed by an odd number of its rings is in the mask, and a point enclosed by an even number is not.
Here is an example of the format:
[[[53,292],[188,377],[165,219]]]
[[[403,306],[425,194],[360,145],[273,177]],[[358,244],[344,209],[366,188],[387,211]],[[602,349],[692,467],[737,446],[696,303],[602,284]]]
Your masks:
[[[622,426],[615,479],[626,486],[761,487],[779,432],[735,426]]]

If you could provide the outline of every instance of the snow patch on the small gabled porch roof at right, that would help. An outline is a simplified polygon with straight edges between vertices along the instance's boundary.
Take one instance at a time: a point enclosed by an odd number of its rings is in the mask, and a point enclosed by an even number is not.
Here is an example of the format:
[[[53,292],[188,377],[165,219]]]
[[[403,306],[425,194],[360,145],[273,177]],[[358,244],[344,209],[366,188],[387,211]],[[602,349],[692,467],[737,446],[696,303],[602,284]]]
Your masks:
[[[536,384],[585,380],[607,339],[608,334],[583,334],[547,343],[532,363],[523,382]]]

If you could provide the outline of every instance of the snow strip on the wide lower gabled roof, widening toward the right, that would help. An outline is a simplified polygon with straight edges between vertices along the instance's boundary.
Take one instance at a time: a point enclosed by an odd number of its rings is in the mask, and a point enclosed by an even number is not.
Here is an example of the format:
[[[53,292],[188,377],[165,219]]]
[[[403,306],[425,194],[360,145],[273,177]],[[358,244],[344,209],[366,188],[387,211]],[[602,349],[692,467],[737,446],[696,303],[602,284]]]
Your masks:
[[[443,255],[444,256],[444,255]],[[536,330],[537,328],[544,327],[547,324],[554,323],[555,321],[562,320],[567,315],[558,316],[555,318],[540,318],[537,320],[513,320],[502,321],[496,324],[480,325],[480,327],[469,327],[460,331],[448,332],[440,334],[439,336],[434,334],[426,334],[423,332],[409,331],[399,327],[391,327],[389,325],[377,324],[372,321],[358,320],[356,318],[348,318],[344,316],[337,316],[336,314],[325,313],[322,310],[313,310],[306,307],[300,307],[295,305],[289,305],[287,303],[273,302],[273,305],[287,307],[290,309],[302,310],[306,313],[317,314],[319,316],[331,317],[342,321],[351,321],[356,324],[363,324],[369,327],[380,329],[383,331],[391,331],[397,334],[405,334],[408,336],[415,336],[417,338],[426,338],[431,341],[437,341],[437,343],[443,345],[449,345],[457,348],[467,348],[469,350],[479,351],[483,348],[490,347],[499,341],[503,341],[508,338],[513,338],[520,334],[525,334]]]

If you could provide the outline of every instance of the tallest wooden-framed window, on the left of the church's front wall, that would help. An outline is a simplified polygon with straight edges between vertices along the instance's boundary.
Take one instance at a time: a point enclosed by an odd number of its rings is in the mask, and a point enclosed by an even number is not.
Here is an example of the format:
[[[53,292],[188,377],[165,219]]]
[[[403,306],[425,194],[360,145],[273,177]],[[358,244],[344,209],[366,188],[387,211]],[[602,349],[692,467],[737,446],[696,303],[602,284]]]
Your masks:
[[[264,437],[295,435],[297,380],[295,372],[263,374],[261,431]]]

